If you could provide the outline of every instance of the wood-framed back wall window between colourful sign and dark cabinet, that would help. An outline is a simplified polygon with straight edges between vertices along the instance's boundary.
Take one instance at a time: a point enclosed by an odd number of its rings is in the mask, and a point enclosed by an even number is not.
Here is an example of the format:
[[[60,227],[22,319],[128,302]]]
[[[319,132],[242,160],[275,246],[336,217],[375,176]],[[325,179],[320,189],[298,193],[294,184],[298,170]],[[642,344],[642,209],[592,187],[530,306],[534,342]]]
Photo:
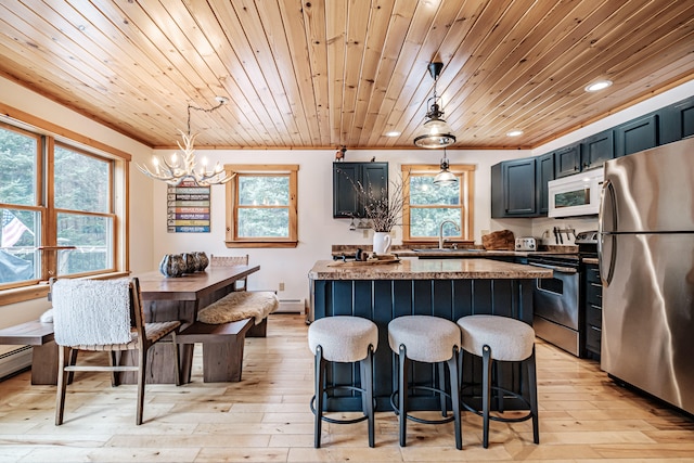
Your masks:
[[[228,165],[227,247],[296,247],[296,165]]]

